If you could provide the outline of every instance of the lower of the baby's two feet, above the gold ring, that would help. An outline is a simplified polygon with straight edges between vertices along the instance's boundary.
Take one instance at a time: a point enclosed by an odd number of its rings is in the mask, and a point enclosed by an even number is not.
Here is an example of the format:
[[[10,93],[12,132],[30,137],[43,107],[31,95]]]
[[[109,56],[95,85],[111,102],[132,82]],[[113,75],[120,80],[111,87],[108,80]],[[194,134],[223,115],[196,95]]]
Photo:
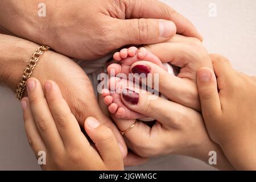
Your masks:
[[[128,87],[139,88],[134,82],[124,80],[118,77],[109,79],[109,90],[105,89],[102,92],[104,103],[108,106],[109,112],[114,114],[116,118],[122,119],[140,119],[145,118],[143,114],[137,113],[126,107],[121,100],[122,90]]]

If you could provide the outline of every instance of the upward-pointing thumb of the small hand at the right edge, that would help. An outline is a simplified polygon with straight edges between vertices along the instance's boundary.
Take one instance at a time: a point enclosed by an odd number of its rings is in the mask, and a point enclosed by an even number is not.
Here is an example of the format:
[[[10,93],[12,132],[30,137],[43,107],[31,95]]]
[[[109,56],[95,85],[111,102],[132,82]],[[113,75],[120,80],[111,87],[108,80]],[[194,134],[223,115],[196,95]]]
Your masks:
[[[221,103],[218,96],[217,80],[212,69],[201,68],[197,71],[197,89],[204,117],[219,114]]]

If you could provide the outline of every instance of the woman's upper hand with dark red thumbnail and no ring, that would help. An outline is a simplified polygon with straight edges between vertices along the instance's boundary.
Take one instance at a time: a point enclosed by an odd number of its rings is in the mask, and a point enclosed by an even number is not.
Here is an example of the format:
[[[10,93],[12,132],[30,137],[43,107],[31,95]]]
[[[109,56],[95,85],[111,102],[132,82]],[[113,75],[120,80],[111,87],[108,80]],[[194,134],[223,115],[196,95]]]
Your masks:
[[[212,67],[212,61],[203,44],[196,38],[175,35],[164,43],[152,44],[146,47],[163,63],[170,63],[180,68],[177,76],[170,75],[161,67],[148,61],[138,61],[131,66],[131,72],[137,65],[146,65],[154,76],[159,74],[159,89],[170,100],[181,105],[201,110],[196,87],[196,72],[201,67]],[[134,72],[135,73],[135,72]],[[154,80],[152,80],[154,87]]]

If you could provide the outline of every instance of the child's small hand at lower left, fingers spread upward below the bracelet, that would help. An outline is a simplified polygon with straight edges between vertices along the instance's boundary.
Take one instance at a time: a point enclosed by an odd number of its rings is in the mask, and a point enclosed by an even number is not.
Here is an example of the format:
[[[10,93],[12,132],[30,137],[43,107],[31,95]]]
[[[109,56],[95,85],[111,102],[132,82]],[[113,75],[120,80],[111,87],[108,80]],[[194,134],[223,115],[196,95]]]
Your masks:
[[[123,158],[112,131],[89,117],[85,131],[95,143],[93,148],[82,133],[59,87],[45,83],[46,97],[40,82],[27,82],[28,98],[22,100],[28,142],[37,157],[46,152],[44,170],[122,170]]]

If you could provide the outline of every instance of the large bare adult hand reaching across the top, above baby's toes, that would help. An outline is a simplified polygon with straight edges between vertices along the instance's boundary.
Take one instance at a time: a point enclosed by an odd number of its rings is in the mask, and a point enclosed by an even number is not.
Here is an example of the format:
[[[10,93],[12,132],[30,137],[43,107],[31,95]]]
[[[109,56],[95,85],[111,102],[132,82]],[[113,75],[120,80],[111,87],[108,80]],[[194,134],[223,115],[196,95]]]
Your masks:
[[[95,59],[129,44],[165,42],[176,27],[177,33],[202,40],[188,19],[156,0],[46,0],[46,17],[38,16],[41,2],[2,0],[1,26],[76,59]]]

